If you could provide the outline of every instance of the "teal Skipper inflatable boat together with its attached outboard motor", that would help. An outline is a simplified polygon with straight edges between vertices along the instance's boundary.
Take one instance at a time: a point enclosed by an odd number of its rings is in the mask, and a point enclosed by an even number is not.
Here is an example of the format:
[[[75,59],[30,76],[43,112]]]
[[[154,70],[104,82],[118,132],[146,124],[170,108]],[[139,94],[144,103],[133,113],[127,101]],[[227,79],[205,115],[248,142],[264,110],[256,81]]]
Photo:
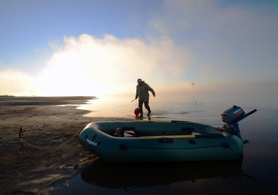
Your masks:
[[[232,122],[223,128],[187,121],[92,122],[80,133],[79,142],[108,162],[239,159],[249,141],[241,139],[237,121],[256,110],[245,114],[234,107],[223,112],[222,120]],[[233,110],[237,112],[229,114]]]

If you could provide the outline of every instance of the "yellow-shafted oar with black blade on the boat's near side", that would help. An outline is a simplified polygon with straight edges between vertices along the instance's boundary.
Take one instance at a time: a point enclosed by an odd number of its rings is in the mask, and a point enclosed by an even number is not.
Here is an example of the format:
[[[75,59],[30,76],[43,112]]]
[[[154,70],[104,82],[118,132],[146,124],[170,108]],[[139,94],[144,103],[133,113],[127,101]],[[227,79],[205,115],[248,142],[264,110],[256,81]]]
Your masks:
[[[201,135],[169,135],[169,136],[146,136],[139,139],[160,139],[160,138],[226,138],[222,134],[201,134]]]

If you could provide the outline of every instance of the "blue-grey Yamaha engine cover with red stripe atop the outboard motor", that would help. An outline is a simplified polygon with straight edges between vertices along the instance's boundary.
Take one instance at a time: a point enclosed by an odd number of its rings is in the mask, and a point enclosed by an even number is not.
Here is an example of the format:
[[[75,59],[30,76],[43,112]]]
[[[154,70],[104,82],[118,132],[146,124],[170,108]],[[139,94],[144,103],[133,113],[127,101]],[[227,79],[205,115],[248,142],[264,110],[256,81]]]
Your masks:
[[[245,115],[245,112],[238,106],[233,106],[227,110],[225,110],[221,116],[222,121],[227,124],[233,124],[238,122],[243,116]]]

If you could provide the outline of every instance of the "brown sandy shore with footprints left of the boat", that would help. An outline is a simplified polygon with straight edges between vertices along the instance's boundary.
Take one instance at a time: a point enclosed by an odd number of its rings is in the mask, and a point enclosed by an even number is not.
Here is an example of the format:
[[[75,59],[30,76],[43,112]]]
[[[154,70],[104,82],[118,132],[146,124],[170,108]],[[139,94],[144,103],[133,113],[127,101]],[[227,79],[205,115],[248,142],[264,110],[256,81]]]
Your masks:
[[[53,186],[64,185],[98,158],[79,144],[81,130],[94,121],[131,119],[84,117],[90,111],[76,109],[77,105],[94,98],[0,97],[2,194],[55,193]],[[24,147],[19,140],[20,127]]]

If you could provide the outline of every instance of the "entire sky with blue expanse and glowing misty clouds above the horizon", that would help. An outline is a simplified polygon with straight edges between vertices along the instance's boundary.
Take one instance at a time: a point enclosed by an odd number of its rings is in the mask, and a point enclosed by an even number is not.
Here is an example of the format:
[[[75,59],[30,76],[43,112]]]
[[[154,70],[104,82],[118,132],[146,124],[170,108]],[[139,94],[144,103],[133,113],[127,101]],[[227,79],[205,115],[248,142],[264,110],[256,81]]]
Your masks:
[[[1,95],[278,99],[278,1],[0,0],[0,28]]]

